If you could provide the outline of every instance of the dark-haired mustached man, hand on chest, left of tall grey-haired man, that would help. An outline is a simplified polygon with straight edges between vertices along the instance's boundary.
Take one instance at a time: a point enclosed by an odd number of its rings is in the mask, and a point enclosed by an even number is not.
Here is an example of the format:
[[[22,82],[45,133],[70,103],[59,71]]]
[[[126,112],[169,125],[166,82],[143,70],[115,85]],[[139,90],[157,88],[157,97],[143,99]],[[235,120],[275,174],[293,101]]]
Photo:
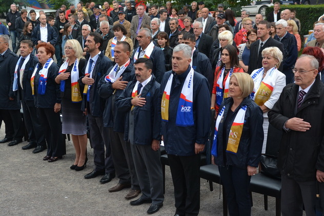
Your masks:
[[[153,63],[139,58],[134,63],[136,79],[116,100],[117,112],[126,116],[125,140],[130,143],[142,196],[131,205],[151,203],[148,214],[163,206],[163,174],[160,162],[160,84],[152,75]]]

